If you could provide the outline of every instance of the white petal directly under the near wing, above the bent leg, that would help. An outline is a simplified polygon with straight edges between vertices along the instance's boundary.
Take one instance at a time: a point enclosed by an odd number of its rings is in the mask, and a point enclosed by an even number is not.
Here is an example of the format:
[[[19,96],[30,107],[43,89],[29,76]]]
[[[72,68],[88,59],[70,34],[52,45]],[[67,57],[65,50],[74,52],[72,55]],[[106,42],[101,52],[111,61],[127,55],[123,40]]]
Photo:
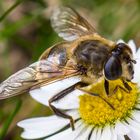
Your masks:
[[[53,97],[60,91],[63,91],[64,89],[74,85],[80,80],[81,79],[77,76],[66,78],[61,81],[57,81],[52,84],[49,84],[47,86],[35,90],[31,90],[30,95],[38,102],[48,106],[48,101],[51,97]]]

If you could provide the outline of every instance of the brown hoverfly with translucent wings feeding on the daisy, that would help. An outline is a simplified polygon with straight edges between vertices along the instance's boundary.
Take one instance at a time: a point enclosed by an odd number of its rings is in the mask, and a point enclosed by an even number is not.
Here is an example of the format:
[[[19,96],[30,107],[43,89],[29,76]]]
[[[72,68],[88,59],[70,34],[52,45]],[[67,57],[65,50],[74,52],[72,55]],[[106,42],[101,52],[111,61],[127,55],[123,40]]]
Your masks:
[[[110,94],[109,81],[116,79],[121,79],[125,88],[118,85],[114,93],[118,88],[130,91],[129,82],[133,79],[133,64],[136,61],[133,60],[132,51],[127,44],[103,38],[70,7],[55,9],[51,23],[54,30],[65,41],[50,47],[41,55],[38,62],[18,71],[2,82],[0,99],[9,98],[68,77],[78,76],[80,82],[62,90],[49,100],[49,106],[54,113],[69,119],[74,130],[73,118],[52,103],[75,89],[87,92],[82,87],[95,84],[100,80],[104,80],[107,96]],[[87,93],[99,96],[96,93]]]

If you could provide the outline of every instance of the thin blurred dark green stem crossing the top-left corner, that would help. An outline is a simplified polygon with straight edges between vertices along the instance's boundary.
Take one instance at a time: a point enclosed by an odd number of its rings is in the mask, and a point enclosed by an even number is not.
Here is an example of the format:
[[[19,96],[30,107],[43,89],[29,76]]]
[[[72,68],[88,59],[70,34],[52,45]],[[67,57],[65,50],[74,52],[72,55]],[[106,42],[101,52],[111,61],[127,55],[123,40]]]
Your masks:
[[[23,0],[17,0],[1,17],[0,22],[11,12],[13,11]]]

